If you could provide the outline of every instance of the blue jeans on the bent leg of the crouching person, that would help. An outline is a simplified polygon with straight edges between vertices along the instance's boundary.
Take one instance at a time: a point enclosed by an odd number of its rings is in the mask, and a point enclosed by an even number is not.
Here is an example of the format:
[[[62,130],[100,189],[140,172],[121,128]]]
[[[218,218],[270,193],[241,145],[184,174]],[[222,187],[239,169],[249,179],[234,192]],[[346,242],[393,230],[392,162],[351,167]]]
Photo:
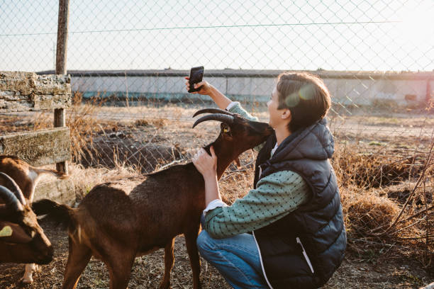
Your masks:
[[[201,256],[216,267],[233,288],[268,288],[251,234],[213,239],[203,229],[196,242]]]

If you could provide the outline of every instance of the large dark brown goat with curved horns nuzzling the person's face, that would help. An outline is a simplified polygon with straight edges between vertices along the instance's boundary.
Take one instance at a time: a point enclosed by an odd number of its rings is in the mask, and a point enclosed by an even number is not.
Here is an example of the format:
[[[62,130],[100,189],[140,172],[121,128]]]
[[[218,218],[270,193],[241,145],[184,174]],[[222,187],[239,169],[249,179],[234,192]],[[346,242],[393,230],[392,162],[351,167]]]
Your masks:
[[[221,133],[213,142],[218,157],[217,174],[242,152],[264,142],[272,134],[267,123],[246,120],[218,109],[196,120],[221,121]],[[209,146],[206,147],[209,150]],[[174,238],[184,234],[193,271],[193,287],[200,288],[200,260],[196,247],[199,220],[205,208],[204,179],[194,164],[172,166],[147,176],[95,186],[79,204],[69,208],[51,200],[33,204],[37,214],[54,215],[69,225],[69,257],[62,288],[76,288],[91,256],[109,268],[110,288],[128,285],[136,256],[165,248],[165,276],[160,289],[169,288],[174,263]]]

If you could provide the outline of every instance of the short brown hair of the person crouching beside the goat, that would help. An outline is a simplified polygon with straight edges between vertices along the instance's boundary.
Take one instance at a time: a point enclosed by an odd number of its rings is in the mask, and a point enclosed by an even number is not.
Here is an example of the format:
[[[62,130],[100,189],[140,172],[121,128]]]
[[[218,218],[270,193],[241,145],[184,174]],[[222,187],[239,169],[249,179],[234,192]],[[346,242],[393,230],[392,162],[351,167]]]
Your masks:
[[[290,132],[306,128],[325,117],[330,108],[330,93],[324,82],[307,72],[284,72],[277,77],[278,109],[291,111]]]

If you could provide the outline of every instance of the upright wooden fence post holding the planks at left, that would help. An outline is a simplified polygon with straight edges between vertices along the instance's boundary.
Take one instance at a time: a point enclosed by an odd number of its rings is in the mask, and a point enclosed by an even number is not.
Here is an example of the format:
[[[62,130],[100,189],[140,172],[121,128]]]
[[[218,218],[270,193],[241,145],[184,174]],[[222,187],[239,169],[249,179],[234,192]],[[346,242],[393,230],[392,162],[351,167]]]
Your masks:
[[[57,23],[57,49],[56,49],[56,71],[55,74],[66,74],[67,64],[67,43],[68,43],[68,22],[69,22],[69,0],[59,0],[59,18]],[[55,108],[55,128],[66,126],[65,108]],[[56,164],[57,171],[68,174],[67,162]]]

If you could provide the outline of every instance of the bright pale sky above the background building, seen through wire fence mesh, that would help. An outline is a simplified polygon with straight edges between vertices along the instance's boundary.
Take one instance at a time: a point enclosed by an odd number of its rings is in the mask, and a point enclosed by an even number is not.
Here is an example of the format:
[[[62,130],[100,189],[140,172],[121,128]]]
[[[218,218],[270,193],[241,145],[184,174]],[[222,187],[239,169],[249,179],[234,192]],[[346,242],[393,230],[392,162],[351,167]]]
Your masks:
[[[67,69],[434,69],[433,0],[70,0]],[[53,69],[57,0],[0,0],[0,70]]]

